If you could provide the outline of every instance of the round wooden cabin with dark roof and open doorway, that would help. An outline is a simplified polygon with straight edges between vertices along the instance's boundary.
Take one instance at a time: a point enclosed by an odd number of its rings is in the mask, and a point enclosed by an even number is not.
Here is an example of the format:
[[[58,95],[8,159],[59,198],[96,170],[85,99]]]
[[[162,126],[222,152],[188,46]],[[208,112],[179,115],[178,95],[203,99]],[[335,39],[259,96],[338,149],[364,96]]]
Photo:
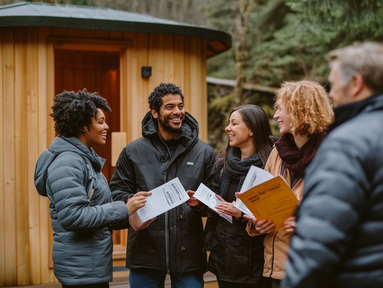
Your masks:
[[[0,286],[57,281],[48,199],[33,183],[36,159],[56,135],[52,97],[87,88],[108,100],[109,131],[122,132],[97,150],[110,179],[112,146],[141,137],[147,98],[160,82],[181,86],[185,109],[207,140],[206,59],[230,47],[227,33],[137,13],[0,6]],[[114,266],[124,267],[127,232],[113,235]]]

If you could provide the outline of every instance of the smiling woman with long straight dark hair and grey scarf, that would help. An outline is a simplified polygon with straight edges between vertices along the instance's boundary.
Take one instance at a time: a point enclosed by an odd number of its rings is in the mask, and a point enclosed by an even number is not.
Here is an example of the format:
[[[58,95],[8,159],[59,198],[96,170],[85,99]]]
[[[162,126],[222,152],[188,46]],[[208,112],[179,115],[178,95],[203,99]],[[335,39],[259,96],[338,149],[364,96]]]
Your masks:
[[[250,167],[264,168],[278,138],[272,135],[266,112],[256,105],[232,110],[225,130],[228,143],[220,151],[213,190],[221,201],[216,208],[232,216],[233,223],[210,211],[204,230],[209,271],[216,275],[219,288],[268,288],[270,280],[262,277],[264,237],[247,234],[248,220],[234,201]]]

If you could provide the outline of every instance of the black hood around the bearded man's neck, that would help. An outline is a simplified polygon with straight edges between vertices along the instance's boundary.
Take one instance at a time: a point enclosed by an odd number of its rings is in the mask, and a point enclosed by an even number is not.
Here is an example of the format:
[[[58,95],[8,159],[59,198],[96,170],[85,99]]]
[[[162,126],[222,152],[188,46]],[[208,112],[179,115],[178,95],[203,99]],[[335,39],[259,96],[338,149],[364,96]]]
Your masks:
[[[188,112],[185,112],[185,118],[182,121],[182,132],[175,139],[189,138],[198,140],[198,122]],[[143,137],[159,137],[158,122],[154,119],[152,112],[146,113],[144,119],[142,119],[142,136]]]

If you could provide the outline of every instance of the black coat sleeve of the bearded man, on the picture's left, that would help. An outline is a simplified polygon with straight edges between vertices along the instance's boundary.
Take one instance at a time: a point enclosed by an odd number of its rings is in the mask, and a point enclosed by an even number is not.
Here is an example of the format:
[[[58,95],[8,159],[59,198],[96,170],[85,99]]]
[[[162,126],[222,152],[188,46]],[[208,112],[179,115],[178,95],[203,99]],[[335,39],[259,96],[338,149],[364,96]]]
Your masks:
[[[136,174],[126,147],[118,157],[109,187],[113,201],[121,200],[126,203],[130,195],[136,194]]]

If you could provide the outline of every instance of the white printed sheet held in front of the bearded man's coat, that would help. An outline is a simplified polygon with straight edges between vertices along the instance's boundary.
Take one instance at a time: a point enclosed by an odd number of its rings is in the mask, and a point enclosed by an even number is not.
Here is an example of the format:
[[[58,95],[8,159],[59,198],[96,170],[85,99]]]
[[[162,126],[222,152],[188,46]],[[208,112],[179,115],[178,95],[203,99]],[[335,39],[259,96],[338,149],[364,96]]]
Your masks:
[[[145,197],[145,206],[136,212],[142,223],[177,207],[190,198],[178,177],[151,190],[151,192],[152,195]]]

